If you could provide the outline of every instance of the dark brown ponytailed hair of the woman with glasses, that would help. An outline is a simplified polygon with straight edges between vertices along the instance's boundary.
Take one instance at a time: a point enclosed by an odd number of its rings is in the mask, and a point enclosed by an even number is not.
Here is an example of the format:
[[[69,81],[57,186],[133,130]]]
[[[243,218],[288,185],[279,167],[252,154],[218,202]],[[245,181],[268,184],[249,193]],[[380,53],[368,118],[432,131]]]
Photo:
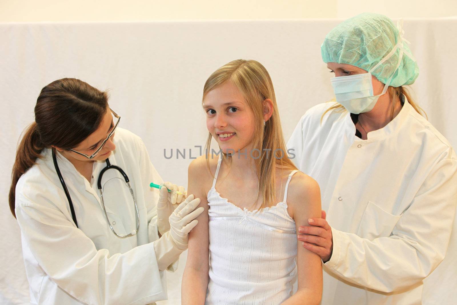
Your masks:
[[[68,150],[100,126],[108,110],[108,95],[82,80],[64,78],[45,86],[37,98],[35,122],[25,131],[11,174],[10,210],[16,217],[16,184],[51,145]]]

